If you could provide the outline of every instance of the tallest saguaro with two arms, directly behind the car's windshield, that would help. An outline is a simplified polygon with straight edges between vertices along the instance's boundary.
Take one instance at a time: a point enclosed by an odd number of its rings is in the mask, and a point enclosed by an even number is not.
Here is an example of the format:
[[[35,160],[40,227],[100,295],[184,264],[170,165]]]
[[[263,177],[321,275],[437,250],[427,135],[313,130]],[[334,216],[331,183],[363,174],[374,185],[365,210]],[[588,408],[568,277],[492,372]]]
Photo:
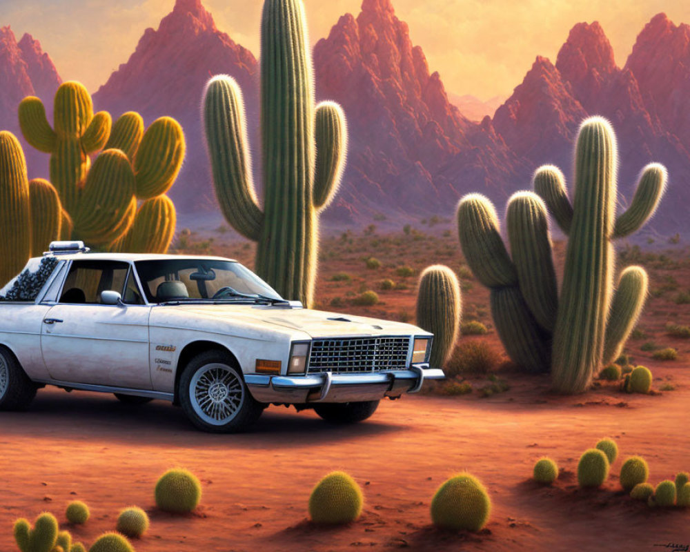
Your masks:
[[[242,93],[220,75],[204,92],[204,128],[216,195],[228,223],[257,242],[255,270],[287,299],[311,305],[317,213],[342,177],[346,123],[333,102],[314,106],[302,0],[266,0],[261,28],[264,208],[247,146]]]

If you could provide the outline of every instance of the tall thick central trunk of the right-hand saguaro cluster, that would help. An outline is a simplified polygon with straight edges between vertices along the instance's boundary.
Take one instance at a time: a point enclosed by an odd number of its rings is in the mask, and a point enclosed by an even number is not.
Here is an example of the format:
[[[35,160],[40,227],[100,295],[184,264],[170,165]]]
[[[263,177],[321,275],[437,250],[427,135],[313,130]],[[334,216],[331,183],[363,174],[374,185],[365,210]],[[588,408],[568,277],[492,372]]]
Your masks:
[[[582,393],[601,367],[613,288],[615,135],[601,117],[586,119],[575,147],[575,201],[558,317],[553,333],[553,386]]]

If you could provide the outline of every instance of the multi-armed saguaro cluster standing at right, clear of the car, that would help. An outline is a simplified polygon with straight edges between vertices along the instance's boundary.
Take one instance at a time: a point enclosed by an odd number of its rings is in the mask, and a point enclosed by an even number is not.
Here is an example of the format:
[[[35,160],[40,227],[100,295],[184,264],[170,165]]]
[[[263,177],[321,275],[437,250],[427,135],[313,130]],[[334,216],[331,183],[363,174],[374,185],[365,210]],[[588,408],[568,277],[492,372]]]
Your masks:
[[[611,240],[638,230],[664,193],[663,166],[644,168],[629,208],[615,217],[615,135],[601,117],[586,119],[575,148],[571,204],[553,166],[535,172],[536,193],[521,192],[506,211],[511,255],[493,205],[480,195],[458,206],[460,244],[477,279],[491,288],[491,310],[506,352],[524,368],[551,369],[553,386],[584,391],[601,366],[620,354],[647,295],[639,267],[623,271],[614,290]],[[568,236],[560,298],[553,269],[547,208]]]

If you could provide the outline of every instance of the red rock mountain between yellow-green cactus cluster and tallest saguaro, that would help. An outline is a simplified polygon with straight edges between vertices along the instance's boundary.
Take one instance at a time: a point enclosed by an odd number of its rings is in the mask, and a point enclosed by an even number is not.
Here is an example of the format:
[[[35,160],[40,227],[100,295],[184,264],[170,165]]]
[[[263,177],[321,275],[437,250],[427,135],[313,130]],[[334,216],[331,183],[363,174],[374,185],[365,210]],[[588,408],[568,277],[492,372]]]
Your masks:
[[[226,73],[244,92],[248,121],[257,119],[257,60],[219,31],[200,0],[177,0],[157,30],[146,29],[135,52],[93,95],[97,109],[112,117],[135,110],[148,126],[175,117],[184,128],[187,155],[170,196],[181,211],[213,206],[208,159],[201,129],[206,81]]]

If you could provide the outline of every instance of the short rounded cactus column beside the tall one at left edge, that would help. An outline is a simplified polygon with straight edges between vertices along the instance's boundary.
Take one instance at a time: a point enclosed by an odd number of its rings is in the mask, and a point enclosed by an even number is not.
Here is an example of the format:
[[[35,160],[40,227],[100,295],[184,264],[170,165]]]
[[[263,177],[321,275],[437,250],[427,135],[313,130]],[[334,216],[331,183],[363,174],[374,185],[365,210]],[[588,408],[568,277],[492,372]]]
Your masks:
[[[60,237],[62,207],[57,191],[41,178],[29,181],[31,256],[40,257]]]

